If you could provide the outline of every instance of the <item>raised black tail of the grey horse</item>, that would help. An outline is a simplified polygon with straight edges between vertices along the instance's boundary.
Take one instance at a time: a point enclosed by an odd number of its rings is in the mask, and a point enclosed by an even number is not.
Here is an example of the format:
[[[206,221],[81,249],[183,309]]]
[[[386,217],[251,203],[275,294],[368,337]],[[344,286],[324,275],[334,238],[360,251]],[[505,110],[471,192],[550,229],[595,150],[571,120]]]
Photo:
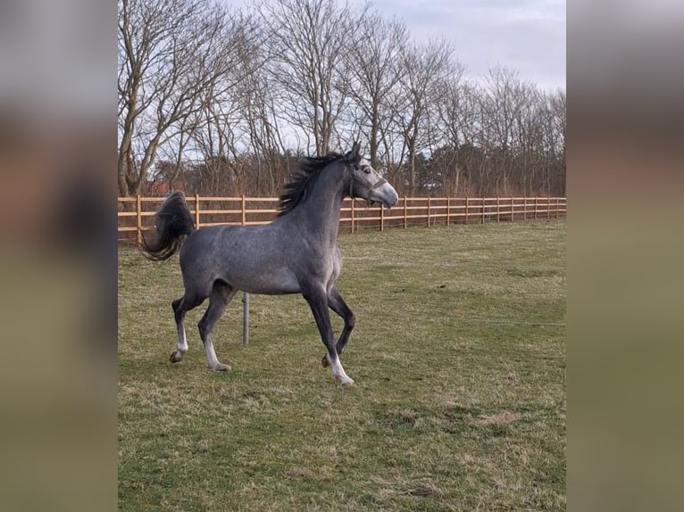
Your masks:
[[[156,238],[150,243],[143,236],[140,247],[149,260],[168,260],[179,250],[186,236],[195,231],[195,221],[188,209],[188,202],[180,191],[166,198],[153,219]]]

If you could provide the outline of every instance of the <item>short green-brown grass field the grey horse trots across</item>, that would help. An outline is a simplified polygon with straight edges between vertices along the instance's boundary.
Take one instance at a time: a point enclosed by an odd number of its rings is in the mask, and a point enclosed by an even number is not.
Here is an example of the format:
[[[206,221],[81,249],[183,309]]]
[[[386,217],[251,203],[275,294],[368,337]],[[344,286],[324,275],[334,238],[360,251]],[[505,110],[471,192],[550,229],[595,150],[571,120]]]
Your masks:
[[[241,294],[172,365],[178,259],[119,252],[121,510],[564,510],[565,224],[340,235],[356,313],[321,367],[300,295]],[[339,332],[341,321],[334,318]]]

